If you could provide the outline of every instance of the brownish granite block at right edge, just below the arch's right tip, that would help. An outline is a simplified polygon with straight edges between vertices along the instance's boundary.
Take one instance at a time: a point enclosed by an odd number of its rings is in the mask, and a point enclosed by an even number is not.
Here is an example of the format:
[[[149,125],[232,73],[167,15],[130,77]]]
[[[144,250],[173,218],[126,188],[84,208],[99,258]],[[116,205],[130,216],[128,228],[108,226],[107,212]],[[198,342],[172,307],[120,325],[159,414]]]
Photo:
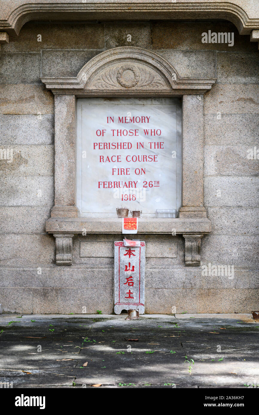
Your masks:
[[[215,84],[204,95],[204,113],[259,114],[259,85]]]

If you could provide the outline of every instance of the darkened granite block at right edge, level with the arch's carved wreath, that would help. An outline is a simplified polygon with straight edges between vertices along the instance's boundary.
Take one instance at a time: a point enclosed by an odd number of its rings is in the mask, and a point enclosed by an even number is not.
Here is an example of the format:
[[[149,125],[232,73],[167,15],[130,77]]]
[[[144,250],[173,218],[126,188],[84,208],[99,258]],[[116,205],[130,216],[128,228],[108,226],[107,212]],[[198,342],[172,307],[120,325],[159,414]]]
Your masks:
[[[259,56],[255,53],[218,53],[218,83],[258,83]]]

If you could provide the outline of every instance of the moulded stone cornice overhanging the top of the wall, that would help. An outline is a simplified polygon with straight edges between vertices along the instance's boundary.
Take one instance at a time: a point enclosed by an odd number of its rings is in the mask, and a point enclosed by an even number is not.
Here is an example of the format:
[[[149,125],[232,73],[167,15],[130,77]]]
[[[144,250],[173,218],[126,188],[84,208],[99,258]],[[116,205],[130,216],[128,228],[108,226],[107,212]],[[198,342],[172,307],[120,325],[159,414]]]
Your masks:
[[[29,20],[225,19],[233,22],[240,34],[259,29],[259,4],[253,0],[0,0],[0,13],[0,30],[17,34]]]

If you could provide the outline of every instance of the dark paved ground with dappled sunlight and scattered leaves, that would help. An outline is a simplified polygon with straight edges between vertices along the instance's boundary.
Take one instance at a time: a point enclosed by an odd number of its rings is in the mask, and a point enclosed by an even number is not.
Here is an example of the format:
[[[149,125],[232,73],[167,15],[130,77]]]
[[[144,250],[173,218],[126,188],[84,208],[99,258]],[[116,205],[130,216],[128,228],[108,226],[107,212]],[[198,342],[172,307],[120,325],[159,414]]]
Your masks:
[[[13,388],[259,387],[259,320],[248,314],[125,318],[0,315],[0,382]]]

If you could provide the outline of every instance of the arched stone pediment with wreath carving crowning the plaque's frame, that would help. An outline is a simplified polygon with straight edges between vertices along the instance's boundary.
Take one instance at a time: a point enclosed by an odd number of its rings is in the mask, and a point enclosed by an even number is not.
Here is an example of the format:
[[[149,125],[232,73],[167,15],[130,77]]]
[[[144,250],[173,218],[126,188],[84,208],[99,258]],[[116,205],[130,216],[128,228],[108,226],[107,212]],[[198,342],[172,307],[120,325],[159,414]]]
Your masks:
[[[76,77],[41,80],[54,95],[142,97],[203,94],[216,81],[181,78],[162,56],[133,46],[101,52]]]

